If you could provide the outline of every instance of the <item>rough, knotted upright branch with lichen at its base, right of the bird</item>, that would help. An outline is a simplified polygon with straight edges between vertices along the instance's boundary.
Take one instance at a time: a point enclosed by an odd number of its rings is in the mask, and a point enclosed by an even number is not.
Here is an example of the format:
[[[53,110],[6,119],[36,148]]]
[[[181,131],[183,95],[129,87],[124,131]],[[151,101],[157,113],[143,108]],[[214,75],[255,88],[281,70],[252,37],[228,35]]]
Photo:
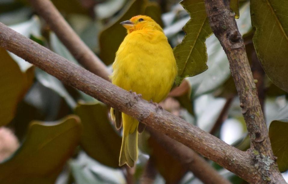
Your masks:
[[[229,1],[228,1],[229,2]],[[220,41],[230,63],[231,74],[240,98],[240,106],[251,140],[251,158],[258,175],[255,182],[284,183],[273,155],[257,89],[249,66],[243,38],[234,14],[223,0],[205,0],[207,16],[215,36]]]

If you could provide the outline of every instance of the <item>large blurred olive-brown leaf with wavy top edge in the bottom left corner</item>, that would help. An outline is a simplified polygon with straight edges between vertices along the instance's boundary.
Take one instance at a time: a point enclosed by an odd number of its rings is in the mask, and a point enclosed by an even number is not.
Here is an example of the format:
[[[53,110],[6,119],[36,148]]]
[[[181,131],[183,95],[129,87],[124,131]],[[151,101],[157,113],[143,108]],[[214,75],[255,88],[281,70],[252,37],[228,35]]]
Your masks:
[[[54,183],[73,155],[80,134],[77,116],[53,123],[32,122],[22,146],[0,164],[0,183]]]

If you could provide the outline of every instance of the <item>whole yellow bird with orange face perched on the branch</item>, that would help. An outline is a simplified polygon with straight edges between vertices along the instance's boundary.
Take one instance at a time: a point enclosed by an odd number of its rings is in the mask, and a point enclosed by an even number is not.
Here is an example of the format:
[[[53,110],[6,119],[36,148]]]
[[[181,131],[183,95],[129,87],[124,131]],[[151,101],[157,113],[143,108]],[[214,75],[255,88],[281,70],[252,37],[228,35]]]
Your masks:
[[[127,35],[116,52],[112,83],[127,91],[141,94],[147,101],[159,103],[168,95],[177,74],[173,50],[163,29],[144,15],[121,23]],[[137,96],[135,96],[137,98]],[[111,108],[111,117],[123,138],[119,165],[133,167],[138,158],[138,132],[145,125],[131,116]]]

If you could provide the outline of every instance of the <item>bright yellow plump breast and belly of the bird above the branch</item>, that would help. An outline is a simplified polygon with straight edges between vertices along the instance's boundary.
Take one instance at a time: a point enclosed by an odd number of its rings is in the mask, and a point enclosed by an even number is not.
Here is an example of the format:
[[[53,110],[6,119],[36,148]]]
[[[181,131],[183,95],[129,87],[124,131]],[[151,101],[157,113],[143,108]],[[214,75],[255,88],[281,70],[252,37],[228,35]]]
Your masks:
[[[111,79],[116,86],[158,103],[169,93],[176,74],[176,61],[164,33],[139,30],[128,34],[120,45]]]

